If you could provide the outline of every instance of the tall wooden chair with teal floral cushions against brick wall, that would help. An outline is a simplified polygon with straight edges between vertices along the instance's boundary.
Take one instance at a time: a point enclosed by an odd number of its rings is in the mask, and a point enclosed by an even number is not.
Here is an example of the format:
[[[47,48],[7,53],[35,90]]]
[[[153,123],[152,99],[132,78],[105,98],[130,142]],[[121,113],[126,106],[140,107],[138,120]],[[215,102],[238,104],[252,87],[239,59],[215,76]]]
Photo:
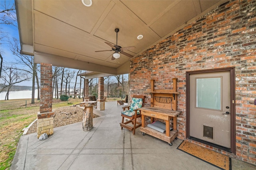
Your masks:
[[[138,123],[136,121],[136,119],[138,117],[141,117],[140,115],[140,111],[138,111],[138,108],[143,107],[144,106],[144,100],[145,100],[145,96],[137,96],[134,95],[132,97],[132,102],[130,104],[130,106],[125,106],[122,107],[123,111],[121,112],[121,116],[122,116],[122,122],[120,123],[121,129],[126,128],[129,131],[133,131],[133,135],[135,134],[135,129],[137,129],[138,127],[141,126],[141,123]],[[126,110],[126,108],[128,110]],[[130,119],[129,121],[124,122],[124,117]],[[127,125],[128,123],[133,124],[133,126]]]

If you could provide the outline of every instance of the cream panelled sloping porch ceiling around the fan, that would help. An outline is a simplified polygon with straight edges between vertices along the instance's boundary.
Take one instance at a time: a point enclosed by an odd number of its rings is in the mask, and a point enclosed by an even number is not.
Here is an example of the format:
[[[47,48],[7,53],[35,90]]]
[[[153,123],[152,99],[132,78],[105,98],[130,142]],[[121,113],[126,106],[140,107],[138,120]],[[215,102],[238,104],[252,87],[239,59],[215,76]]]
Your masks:
[[[16,0],[22,52],[36,63],[51,63],[94,72],[125,74],[130,58],[104,42],[135,46],[140,54],[224,1],[220,0]],[[142,34],[143,39],[137,39]]]

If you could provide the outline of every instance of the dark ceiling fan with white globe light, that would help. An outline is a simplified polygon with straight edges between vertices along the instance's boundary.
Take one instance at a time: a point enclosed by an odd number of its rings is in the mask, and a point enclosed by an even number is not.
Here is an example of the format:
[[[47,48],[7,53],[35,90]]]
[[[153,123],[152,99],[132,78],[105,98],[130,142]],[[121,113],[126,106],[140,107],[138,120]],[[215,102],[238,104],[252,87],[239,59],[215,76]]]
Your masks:
[[[111,43],[109,42],[105,42],[107,45],[109,45],[112,50],[101,50],[101,51],[95,51],[95,52],[103,52],[103,51],[114,51],[115,53],[112,55],[112,58],[111,60],[114,60],[114,59],[118,59],[120,57],[120,54],[123,54],[123,55],[126,55],[128,57],[133,57],[133,55],[130,55],[126,52],[124,52],[123,50],[130,50],[130,49],[136,49],[136,47],[134,46],[130,46],[130,47],[121,47],[119,45],[117,45],[117,33],[119,32],[119,29],[116,28],[115,29],[115,32],[116,32],[116,45],[112,45]]]

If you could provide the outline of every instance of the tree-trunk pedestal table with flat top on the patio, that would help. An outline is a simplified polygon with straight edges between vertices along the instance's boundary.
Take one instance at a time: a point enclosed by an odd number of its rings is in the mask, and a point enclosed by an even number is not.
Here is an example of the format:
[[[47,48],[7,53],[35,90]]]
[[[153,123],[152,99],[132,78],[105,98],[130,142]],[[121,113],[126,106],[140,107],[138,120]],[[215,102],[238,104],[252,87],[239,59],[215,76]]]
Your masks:
[[[82,128],[84,131],[90,131],[93,127],[93,106],[96,106],[96,101],[81,102],[80,106],[84,106]]]

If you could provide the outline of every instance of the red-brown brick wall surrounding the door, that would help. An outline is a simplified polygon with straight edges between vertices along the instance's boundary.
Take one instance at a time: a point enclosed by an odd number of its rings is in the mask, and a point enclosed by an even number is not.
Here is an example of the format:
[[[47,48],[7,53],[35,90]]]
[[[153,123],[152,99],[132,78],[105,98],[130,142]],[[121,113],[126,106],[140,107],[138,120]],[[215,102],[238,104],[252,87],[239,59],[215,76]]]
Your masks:
[[[131,60],[130,94],[171,89],[178,78],[178,137],[186,138],[186,72],[235,67],[236,155],[256,164],[256,1],[224,2]],[[150,106],[150,98],[146,98]]]

